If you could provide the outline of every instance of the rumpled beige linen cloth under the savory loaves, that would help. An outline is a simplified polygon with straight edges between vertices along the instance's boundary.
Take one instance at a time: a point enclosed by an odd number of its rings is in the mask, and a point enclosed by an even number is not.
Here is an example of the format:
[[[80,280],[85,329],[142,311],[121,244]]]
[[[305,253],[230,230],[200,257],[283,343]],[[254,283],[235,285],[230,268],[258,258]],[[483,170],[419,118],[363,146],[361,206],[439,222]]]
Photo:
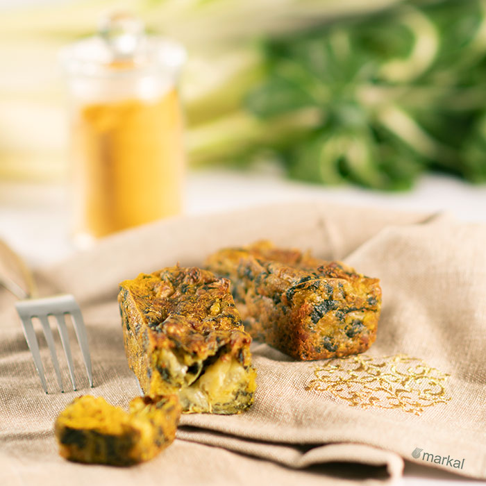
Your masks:
[[[185,415],[172,446],[129,469],[60,458],[53,421],[74,396],[92,393],[126,406],[137,394],[117,284],[176,262],[201,265],[221,246],[262,238],[380,278],[383,312],[371,349],[295,362],[253,343],[258,389],[247,412]],[[43,292],[71,292],[81,304],[95,387],[87,388],[75,353],[78,392],[58,393],[49,366],[51,393],[42,392],[14,299],[0,290],[2,485],[376,484],[398,478],[403,459],[486,479],[486,226],[302,202],[161,221],[35,277]]]

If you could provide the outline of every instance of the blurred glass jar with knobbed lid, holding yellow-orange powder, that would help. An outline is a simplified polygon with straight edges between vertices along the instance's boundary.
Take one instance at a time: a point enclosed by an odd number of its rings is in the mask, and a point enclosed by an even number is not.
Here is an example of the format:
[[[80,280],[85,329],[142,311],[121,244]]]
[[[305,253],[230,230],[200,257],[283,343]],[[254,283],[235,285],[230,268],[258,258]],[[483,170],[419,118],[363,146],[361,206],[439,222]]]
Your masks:
[[[102,35],[63,53],[72,92],[73,231],[97,237],[176,215],[183,120],[176,81],[185,53],[112,16]]]

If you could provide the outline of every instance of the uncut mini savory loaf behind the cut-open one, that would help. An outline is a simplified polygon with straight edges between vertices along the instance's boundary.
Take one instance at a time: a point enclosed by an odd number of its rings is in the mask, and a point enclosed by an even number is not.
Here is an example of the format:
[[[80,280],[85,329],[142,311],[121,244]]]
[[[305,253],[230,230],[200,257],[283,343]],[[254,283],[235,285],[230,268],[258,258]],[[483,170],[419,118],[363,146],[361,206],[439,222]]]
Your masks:
[[[362,353],[376,339],[378,278],[271,242],[223,249],[206,265],[230,278],[246,330],[293,358]]]

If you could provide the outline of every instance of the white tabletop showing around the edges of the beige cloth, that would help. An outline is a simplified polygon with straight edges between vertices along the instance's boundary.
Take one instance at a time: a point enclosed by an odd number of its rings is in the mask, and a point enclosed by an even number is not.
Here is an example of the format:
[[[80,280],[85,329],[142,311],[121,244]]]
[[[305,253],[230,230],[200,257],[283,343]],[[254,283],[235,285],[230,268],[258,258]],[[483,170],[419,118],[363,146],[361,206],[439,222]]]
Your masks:
[[[302,199],[377,208],[449,211],[463,221],[486,222],[486,185],[473,186],[450,176],[433,175],[421,178],[410,192],[373,192],[351,186],[296,183],[271,168],[257,173],[210,170],[188,174],[185,213],[199,215]],[[65,187],[0,181],[0,238],[31,266],[53,263],[75,253],[76,248],[69,239]],[[411,462],[406,462],[401,479],[405,486],[471,483],[466,478]]]

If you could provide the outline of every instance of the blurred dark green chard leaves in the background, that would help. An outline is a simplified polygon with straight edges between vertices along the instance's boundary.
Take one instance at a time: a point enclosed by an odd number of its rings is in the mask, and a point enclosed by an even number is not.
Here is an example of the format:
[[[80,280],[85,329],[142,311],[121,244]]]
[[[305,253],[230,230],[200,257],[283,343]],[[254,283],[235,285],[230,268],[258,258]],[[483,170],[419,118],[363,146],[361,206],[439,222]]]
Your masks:
[[[321,124],[262,150],[315,183],[403,190],[427,169],[485,181],[485,32],[482,1],[416,1],[267,40],[246,109],[271,126],[312,108]]]

